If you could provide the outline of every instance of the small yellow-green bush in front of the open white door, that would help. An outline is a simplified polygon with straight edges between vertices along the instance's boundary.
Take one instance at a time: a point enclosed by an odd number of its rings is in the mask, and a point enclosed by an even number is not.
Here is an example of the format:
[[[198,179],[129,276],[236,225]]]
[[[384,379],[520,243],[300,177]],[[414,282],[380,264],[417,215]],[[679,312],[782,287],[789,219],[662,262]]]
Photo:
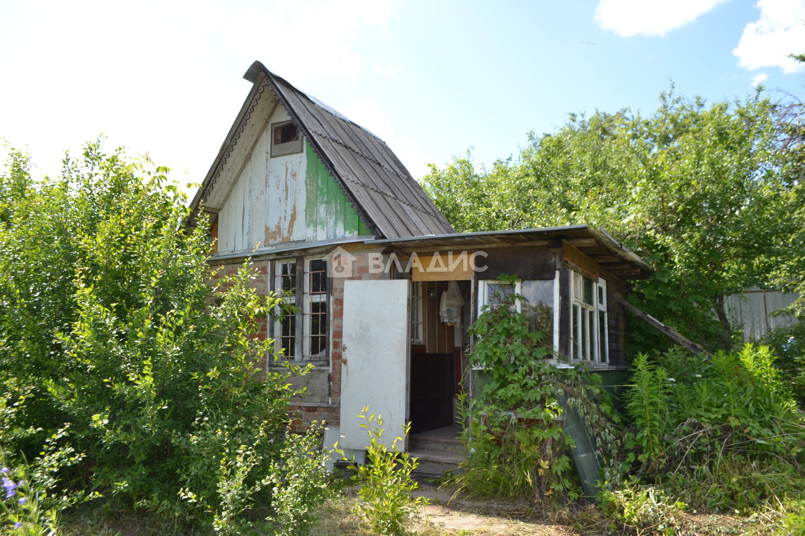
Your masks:
[[[404,438],[411,424],[403,427],[403,436],[395,438],[391,448],[388,448],[383,442],[385,429],[382,427],[382,416],[367,416],[367,413],[369,407],[358,415],[358,418],[366,421],[360,426],[369,435],[369,447],[366,449],[365,464],[358,465],[353,473],[353,481],[361,486],[353,513],[363,517],[374,534],[402,536],[405,534],[403,520],[420,505],[427,504],[427,499],[423,497],[411,498],[411,492],[419,486],[411,480],[411,472],[417,466],[416,459],[410,458],[407,452],[397,450],[397,442],[405,443]],[[343,452],[339,452],[343,456]]]

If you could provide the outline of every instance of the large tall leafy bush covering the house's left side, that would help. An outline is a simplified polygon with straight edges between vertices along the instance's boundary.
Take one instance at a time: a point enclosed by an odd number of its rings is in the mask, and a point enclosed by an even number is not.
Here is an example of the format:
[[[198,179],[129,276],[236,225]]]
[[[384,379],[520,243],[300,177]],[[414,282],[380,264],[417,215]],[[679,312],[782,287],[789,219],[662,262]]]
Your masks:
[[[4,446],[31,459],[72,423],[85,457],[62,485],[237,529],[270,501],[295,394],[263,366],[261,325],[287,304],[255,293],[248,262],[214,274],[167,168],[99,143],[56,179],[29,167],[12,152],[0,177],[0,377],[31,386],[13,423],[31,433]]]

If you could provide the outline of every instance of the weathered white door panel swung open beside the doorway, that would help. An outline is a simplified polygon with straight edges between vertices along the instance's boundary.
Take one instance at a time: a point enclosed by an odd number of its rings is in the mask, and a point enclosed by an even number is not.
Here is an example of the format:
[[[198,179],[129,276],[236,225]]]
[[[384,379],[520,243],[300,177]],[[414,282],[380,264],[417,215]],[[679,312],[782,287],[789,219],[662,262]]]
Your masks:
[[[365,406],[382,416],[390,447],[407,421],[408,281],[347,279],[342,340],[347,364],[341,369],[341,447],[369,444],[359,426],[365,421],[357,418]]]

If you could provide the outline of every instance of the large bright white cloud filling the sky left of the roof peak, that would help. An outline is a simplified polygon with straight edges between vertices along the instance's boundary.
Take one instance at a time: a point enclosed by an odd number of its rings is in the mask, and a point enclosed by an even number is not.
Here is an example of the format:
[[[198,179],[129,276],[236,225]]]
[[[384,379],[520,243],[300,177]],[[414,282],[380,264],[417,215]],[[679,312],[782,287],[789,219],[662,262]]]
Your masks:
[[[0,2],[0,136],[54,174],[63,150],[105,132],[109,150],[151,150],[200,182],[252,61],[313,94],[351,85],[368,67],[353,42],[382,39],[391,2]]]

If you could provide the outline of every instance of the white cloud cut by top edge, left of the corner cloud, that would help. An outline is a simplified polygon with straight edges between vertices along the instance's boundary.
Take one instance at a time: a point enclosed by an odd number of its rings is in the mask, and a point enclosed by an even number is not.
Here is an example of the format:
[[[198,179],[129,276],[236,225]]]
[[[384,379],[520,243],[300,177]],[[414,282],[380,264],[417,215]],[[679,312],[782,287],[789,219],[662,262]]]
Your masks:
[[[666,35],[729,0],[601,0],[596,22],[618,35]]]

